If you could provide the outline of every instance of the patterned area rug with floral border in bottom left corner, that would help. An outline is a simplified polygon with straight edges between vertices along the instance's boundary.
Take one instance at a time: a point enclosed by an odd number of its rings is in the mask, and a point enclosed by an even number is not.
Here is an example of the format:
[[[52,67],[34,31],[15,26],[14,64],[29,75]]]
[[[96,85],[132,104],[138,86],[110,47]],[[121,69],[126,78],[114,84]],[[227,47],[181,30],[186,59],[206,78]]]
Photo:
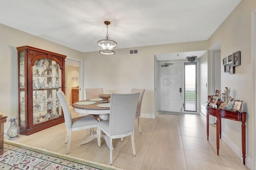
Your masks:
[[[112,170],[66,156],[4,142],[0,170]]]

